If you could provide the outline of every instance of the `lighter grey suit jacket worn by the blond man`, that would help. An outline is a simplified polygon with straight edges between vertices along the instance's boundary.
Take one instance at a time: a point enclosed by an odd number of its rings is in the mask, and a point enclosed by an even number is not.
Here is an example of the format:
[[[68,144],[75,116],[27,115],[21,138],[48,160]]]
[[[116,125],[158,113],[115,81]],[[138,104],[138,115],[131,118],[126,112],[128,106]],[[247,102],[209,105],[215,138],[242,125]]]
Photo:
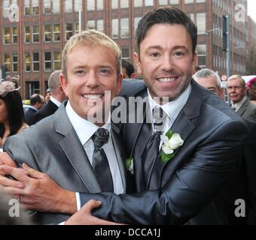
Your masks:
[[[114,151],[126,190],[128,173],[123,163],[127,156],[120,145],[117,130],[114,125],[111,126]],[[101,192],[84,147],[66,114],[65,104],[40,123],[10,136],[5,142],[4,151],[7,151],[17,163],[27,163],[32,168],[47,173],[60,187],[74,192]],[[68,217],[66,214],[56,213],[33,214],[35,222],[41,224],[59,223]]]

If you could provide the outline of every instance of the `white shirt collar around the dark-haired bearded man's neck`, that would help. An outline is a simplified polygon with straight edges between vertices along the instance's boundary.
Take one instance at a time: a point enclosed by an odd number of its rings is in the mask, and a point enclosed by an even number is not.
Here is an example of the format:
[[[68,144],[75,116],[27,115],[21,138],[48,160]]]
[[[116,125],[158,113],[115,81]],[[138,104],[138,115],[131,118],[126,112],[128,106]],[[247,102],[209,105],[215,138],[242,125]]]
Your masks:
[[[187,86],[187,89],[185,89],[181,93],[181,95],[178,96],[178,98],[162,106],[160,106],[154,101],[154,99],[151,97],[148,91],[148,101],[149,101],[149,106],[151,110],[151,117],[152,117],[152,111],[154,107],[162,107],[163,111],[168,115],[169,119],[172,122],[175,121],[175,119],[178,117],[178,114],[181,112],[181,109],[187,103],[187,99],[189,98],[191,89],[192,89],[191,84],[189,84],[189,86]]]

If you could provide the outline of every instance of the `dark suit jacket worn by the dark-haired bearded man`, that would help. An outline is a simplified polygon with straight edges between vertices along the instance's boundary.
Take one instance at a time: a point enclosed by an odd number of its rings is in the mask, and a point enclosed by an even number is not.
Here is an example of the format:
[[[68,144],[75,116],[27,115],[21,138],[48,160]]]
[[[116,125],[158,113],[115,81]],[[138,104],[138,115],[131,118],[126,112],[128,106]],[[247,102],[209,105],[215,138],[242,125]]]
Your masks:
[[[131,81],[123,87],[123,95],[133,93],[147,96],[145,88],[133,86]],[[142,152],[150,138],[144,134],[145,125],[120,125],[126,148],[133,155],[139,193],[120,196],[85,193],[81,195],[81,202],[92,198],[101,200],[102,207],[93,214],[121,223],[184,224],[187,220],[191,224],[228,223],[223,202],[218,203],[216,199],[230,184],[241,159],[248,136],[248,127],[242,118],[193,80],[190,97],[172,125],[172,131],[180,133],[184,144],[175,157],[162,166],[159,181],[150,179],[149,190],[142,181]],[[151,170],[149,175],[152,173]]]

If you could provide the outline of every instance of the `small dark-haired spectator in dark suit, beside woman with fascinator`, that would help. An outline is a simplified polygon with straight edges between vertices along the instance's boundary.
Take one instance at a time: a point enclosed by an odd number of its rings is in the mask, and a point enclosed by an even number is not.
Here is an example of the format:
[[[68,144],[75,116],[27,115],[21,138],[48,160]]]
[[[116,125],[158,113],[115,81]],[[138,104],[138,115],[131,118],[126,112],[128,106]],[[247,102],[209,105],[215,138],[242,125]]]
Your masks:
[[[32,118],[34,117],[35,113],[44,106],[44,97],[42,95],[32,95],[30,97],[30,105],[29,110],[25,113],[25,121],[29,126],[32,124]]]

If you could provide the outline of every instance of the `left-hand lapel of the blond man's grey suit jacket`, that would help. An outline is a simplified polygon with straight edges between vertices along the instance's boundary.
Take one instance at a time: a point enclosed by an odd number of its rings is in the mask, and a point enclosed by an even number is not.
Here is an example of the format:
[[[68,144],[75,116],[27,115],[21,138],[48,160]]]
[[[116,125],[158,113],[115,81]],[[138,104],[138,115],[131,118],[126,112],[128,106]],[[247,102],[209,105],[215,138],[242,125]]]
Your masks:
[[[65,107],[66,105],[63,104],[62,107],[57,110],[58,114],[53,116],[56,132],[64,136],[59,142],[59,146],[66,154],[66,157],[69,159],[75,172],[77,172],[90,193],[100,192],[101,188],[99,182],[93,172],[93,168],[84,151],[84,147],[81,145],[81,142],[75,133],[75,129],[69,121]]]

